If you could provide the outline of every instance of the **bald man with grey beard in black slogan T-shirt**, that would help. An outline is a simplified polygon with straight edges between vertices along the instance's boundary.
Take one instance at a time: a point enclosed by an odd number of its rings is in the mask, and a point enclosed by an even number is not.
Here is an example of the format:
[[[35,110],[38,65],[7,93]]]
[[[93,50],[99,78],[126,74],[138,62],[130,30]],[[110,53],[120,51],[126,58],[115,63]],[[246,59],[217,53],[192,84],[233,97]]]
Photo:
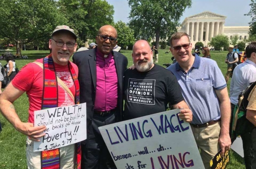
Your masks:
[[[176,77],[153,63],[153,51],[147,41],[135,42],[132,59],[136,69],[126,70],[124,79],[124,120],[165,112],[170,103],[174,109],[185,108],[179,117],[190,123],[192,112],[184,101]]]

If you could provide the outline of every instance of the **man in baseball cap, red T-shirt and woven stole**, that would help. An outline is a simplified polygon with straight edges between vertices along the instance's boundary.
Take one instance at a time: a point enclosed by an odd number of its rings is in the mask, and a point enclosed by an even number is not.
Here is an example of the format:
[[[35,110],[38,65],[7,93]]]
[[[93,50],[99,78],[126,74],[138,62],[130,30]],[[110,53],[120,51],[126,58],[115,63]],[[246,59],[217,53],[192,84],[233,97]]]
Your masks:
[[[34,125],[34,111],[79,104],[78,68],[69,61],[76,51],[76,39],[73,29],[57,26],[49,40],[52,53],[22,68],[0,95],[3,116],[17,131],[28,136],[28,169],[78,169],[80,166],[80,143],[33,152],[34,142],[42,140],[51,129]],[[27,123],[20,120],[13,105],[25,92],[29,100]]]

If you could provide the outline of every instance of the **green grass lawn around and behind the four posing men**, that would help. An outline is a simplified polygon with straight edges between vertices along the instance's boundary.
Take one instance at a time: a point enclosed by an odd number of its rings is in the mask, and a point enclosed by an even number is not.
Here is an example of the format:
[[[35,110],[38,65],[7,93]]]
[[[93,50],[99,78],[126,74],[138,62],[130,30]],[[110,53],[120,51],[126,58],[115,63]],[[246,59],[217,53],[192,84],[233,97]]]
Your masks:
[[[171,53],[165,54],[166,50],[159,49],[158,65],[165,63],[171,63]],[[0,51],[0,55],[3,51]],[[15,53],[15,52],[12,52]],[[130,50],[121,50],[121,53],[127,56],[128,66],[132,65],[132,57]],[[225,63],[225,57],[227,51],[224,52],[211,52],[212,59],[215,60],[221,69],[223,75],[226,74],[227,64]],[[33,62],[37,58],[42,58],[49,54],[48,51],[22,51],[22,55],[27,55],[28,59],[16,59],[16,65],[19,69],[29,62]],[[4,65],[5,60],[0,60]],[[229,88],[230,80],[228,82]],[[14,102],[16,112],[22,121],[28,120],[28,97],[23,94],[19,99]],[[0,169],[27,169],[26,162],[26,136],[22,135],[14,129],[14,127],[5,118],[0,115],[0,121],[3,127],[3,131],[0,133]],[[232,150],[230,151],[230,161],[227,169],[245,169],[243,159]]]

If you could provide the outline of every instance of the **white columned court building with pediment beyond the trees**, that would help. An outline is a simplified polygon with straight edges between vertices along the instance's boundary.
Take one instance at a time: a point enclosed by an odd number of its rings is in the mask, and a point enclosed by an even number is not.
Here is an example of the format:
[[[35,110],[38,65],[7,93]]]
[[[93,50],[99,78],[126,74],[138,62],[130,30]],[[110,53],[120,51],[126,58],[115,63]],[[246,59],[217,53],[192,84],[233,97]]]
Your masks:
[[[238,35],[239,40],[248,39],[249,26],[225,27],[225,19],[226,16],[205,11],[186,17],[177,31],[186,32],[191,38],[193,47],[199,41],[207,46],[216,35],[225,35],[228,39]]]

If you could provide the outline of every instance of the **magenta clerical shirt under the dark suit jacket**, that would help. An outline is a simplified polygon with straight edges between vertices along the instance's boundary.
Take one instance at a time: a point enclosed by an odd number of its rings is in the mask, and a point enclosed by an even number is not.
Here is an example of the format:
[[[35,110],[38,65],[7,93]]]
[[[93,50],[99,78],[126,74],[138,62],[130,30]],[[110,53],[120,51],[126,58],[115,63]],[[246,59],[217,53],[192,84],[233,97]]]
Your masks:
[[[99,112],[113,110],[117,105],[117,74],[112,53],[104,57],[96,50],[96,74],[94,109]]]

